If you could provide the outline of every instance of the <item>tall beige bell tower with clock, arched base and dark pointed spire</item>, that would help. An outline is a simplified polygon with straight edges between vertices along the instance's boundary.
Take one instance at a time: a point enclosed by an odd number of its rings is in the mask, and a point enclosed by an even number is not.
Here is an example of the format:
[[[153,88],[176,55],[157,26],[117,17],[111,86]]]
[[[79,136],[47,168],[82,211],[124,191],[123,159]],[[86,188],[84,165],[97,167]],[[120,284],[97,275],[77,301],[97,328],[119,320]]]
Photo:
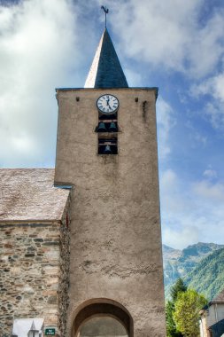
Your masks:
[[[85,88],[57,89],[55,184],[73,186],[69,337],[166,335],[157,96],[128,88],[106,28]]]

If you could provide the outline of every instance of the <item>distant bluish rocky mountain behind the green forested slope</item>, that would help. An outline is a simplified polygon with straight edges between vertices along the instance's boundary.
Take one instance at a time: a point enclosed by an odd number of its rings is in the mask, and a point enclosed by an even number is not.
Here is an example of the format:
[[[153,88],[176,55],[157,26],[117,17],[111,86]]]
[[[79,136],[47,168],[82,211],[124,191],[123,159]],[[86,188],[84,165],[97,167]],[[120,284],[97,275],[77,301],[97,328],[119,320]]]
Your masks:
[[[183,250],[163,245],[166,297],[169,294],[170,287],[174,285],[177,278],[186,278],[189,282],[189,274],[197,267],[198,263],[221,248],[224,248],[224,245],[203,242],[198,242],[197,244],[186,247]]]

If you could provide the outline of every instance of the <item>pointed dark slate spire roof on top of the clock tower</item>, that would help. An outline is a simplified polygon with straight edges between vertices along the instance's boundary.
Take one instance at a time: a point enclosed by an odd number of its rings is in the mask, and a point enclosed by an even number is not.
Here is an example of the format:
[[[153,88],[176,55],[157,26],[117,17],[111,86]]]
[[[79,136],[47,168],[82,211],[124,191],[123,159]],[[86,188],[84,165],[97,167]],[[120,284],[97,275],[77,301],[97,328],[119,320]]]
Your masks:
[[[107,29],[100,39],[84,88],[128,88]]]

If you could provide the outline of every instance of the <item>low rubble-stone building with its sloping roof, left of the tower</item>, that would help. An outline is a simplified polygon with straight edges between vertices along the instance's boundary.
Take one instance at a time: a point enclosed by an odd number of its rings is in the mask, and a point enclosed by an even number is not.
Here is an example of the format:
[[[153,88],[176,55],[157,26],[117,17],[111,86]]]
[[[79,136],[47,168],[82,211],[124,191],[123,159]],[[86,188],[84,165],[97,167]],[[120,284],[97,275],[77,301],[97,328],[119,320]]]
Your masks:
[[[66,335],[70,191],[54,187],[53,175],[54,169],[0,169],[1,337],[12,336],[15,322],[14,336],[27,337],[28,318]]]

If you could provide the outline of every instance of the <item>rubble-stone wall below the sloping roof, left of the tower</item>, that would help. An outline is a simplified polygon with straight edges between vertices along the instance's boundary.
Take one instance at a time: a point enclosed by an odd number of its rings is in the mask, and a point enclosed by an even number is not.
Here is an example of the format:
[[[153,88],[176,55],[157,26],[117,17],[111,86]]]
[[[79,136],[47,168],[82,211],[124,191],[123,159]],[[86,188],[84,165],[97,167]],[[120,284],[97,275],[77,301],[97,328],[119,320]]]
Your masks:
[[[1,223],[0,336],[13,319],[44,318],[64,336],[68,306],[69,218],[48,223]]]

